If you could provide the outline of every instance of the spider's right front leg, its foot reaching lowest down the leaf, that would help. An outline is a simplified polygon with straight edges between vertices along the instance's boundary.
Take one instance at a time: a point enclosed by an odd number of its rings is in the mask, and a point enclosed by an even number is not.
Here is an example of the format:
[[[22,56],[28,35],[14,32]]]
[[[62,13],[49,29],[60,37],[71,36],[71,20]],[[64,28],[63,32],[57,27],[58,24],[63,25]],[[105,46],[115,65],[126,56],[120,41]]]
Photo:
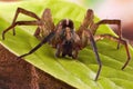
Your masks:
[[[89,43],[91,43],[91,46],[93,48],[96,61],[99,63],[99,69],[98,69],[98,73],[96,73],[96,77],[95,77],[95,80],[98,80],[98,78],[100,76],[100,72],[101,72],[101,69],[102,69],[102,62],[101,62],[100,56],[98,53],[98,48],[96,48],[93,34],[91,33],[91,31],[89,29],[86,29],[85,27],[82,27],[82,26],[80,27],[80,29],[78,31],[78,34],[81,39],[83,48],[85,48]]]

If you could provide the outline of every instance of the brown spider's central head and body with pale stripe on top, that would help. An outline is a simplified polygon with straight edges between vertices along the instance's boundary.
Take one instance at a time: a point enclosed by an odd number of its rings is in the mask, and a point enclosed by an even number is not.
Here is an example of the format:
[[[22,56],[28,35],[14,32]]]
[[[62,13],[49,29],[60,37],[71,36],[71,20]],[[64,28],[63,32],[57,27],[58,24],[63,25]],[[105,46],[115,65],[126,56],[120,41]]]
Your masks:
[[[69,57],[76,58],[78,55],[73,53],[73,51],[81,44],[80,38],[74,31],[73,21],[63,19],[58,23],[58,28],[60,29],[54,30],[55,34],[50,41],[52,47],[57,48],[55,56],[60,57],[62,55],[62,57],[65,57],[68,55]],[[79,47],[75,44],[79,44]]]

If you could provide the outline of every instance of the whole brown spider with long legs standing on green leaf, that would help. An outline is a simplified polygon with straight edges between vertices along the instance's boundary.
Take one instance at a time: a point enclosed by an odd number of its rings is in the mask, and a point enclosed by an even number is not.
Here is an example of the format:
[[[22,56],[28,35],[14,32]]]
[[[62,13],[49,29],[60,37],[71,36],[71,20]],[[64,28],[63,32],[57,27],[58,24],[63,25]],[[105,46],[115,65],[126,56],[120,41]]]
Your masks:
[[[35,18],[37,20],[16,21],[19,13],[23,13],[25,16]],[[69,57],[72,57],[73,59],[76,59],[79,50],[82,50],[89,43],[91,43],[93,51],[95,53],[96,61],[99,63],[99,70],[98,70],[96,77],[95,77],[95,80],[98,80],[101,68],[102,68],[102,63],[101,63],[101,60],[100,60],[100,57],[98,53],[98,48],[96,48],[95,41],[104,39],[104,38],[113,40],[113,41],[117,41],[119,42],[117,49],[119,49],[120,43],[124,44],[126,55],[127,55],[127,59],[126,59],[124,66],[122,67],[122,69],[124,69],[127,66],[131,57],[130,57],[127,42],[122,39],[121,20],[104,19],[104,20],[101,20],[101,21],[94,23],[93,18],[94,18],[93,10],[89,9],[86,11],[86,14],[85,14],[83,22],[81,23],[79,30],[75,31],[73,21],[70,19],[63,19],[63,20],[59,21],[59,23],[57,26],[54,26],[54,23],[52,21],[52,16],[51,16],[50,9],[45,9],[42,17],[39,18],[35,13],[33,13],[31,11],[24,10],[22,8],[18,8],[12,24],[9,28],[7,28],[6,30],[3,30],[2,39],[4,39],[4,33],[11,29],[13,29],[13,34],[16,34],[16,31],[14,31],[16,26],[38,26],[35,32],[34,32],[34,36],[38,39],[40,39],[41,42],[39,44],[37,44],[33,49],[31,49],[28,53],[24,53],[24,55],[18,57],[18,59],[33,53],[42,44],[44,44],[47,42],[49,42],[53,48],[57,49],[55,57],[60,57],[60,55],[62,55],[62,57],[69,56]],[[119,38],[108,34],[108,33],[95,34],[98,27],[100,24],[105,24],[105,23],[117,24]]]

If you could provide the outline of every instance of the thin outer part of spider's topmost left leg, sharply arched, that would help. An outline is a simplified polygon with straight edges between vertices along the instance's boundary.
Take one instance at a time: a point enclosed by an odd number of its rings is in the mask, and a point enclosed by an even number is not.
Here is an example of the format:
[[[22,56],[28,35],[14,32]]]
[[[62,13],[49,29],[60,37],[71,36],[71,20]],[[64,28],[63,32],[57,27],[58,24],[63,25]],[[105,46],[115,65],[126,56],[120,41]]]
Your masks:
[[[16,11],[16,14],[14,14],[14,18],[13,18],[13,21],[12,21],[12,24],[16,22],[19,13],[23,13],[23,14],[25,14],[25,16],[32,17],[32,18],[34,18],[34,19],[37,19],[37,20],[40,20],[40,18],[39,18],[35,13],[33,13],[33,12],[31,12],[31,11],[28,11],[28,10],[25,10],[25,9],[22,9],[22,8],[18,8],[17,11]],[[13,36],[14,36],[14,34],[16,34],[16,31],[14,31],[14,28],[13,28]]]

